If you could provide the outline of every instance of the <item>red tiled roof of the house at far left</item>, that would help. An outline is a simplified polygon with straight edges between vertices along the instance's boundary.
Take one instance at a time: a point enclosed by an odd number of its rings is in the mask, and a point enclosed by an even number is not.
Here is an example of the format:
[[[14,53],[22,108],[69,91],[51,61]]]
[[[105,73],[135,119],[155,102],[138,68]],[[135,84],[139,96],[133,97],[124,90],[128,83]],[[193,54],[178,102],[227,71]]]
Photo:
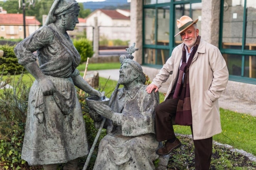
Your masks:
[[[23,24],[23,14],[21,13],[6,13],[0,14],[0,24],[13,24],[13,25],[22,25]],[[26,16],[26,24],[36,24],[40,25],[41,23],[34,16]]]

